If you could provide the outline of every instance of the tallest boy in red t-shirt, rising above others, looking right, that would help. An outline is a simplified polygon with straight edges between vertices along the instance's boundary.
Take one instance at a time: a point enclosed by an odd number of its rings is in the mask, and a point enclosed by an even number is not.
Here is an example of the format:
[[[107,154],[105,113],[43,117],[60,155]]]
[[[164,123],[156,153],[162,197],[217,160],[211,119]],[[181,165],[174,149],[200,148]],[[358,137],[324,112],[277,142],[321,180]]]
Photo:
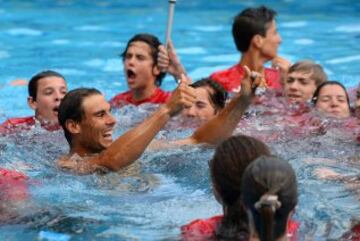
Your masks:
[[[236,48],[241,52],[239,63],[226,70],[217,71],[210,78],[219,82],[229,92],[239,92],[244,76],[244,66],[260,74],[267,87],[281,87],[281,73],[286,72],[290,63],[277,56],[281,37],[275,22],[276,12],[265,6],[247,8],[234,19],[232,34]],[[264,64],[272,60],[276,68],[265,68]]]

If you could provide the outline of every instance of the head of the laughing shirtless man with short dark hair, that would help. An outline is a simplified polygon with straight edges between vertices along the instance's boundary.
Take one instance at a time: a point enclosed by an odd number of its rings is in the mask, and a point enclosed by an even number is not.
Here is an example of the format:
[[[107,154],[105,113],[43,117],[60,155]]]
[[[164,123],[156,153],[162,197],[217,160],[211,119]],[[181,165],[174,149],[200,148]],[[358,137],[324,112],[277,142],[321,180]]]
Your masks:
[[[112,143],[116,123],[110,104],[100,91],[79,88],[69,91],[59,108],[59,124],[71,149],[98,153]]]

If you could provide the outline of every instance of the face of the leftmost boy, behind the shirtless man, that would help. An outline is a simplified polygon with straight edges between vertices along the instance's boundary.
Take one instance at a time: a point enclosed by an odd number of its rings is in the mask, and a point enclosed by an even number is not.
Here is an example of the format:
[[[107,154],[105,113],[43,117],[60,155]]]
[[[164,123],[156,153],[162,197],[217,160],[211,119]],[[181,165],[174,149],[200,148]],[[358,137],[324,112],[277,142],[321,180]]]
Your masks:
[[[38,80],[36,100],[28,98],[29,106],[35,110],[35,117],[43,122],[57,123],[61,100],[67,92],[63,78],[49,76]]]

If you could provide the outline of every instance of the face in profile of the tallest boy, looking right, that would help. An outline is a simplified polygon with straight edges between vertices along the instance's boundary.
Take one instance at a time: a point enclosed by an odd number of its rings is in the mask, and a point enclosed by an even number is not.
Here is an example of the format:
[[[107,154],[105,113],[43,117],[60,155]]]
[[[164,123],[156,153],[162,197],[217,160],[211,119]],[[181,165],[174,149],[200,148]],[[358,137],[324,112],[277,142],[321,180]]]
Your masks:
[[[268,25],[265,37],[262,37],[261,52],[265,58],[270,60],[277,56],[277,51],[282,40],[277,31],[275,20],[268,23]]]

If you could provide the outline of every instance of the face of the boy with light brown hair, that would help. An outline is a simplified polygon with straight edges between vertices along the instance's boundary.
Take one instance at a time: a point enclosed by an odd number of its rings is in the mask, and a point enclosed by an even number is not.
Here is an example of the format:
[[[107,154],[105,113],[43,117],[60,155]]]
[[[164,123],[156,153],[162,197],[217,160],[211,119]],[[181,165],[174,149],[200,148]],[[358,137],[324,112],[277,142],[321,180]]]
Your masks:
[[[315,90],[316,82],[311,79],[311,72],[289,73],[284,82],[284,95],[291,102],[306,102],[311,99]]]

